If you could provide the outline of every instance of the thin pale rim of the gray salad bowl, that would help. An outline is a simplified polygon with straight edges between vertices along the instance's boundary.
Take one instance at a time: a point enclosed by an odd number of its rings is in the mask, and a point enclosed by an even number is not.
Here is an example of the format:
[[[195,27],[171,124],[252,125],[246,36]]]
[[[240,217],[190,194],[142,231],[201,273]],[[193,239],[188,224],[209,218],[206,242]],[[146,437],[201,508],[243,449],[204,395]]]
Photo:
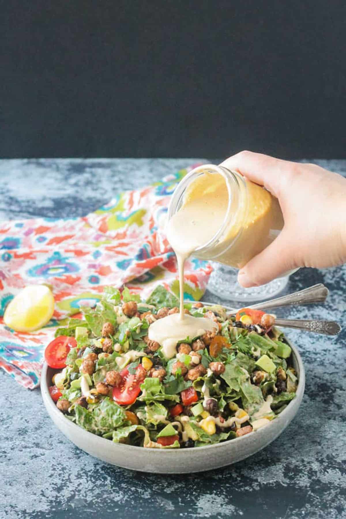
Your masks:
[[[191,301],[189,301],[188,303],[191,303]],[[215,304],[212,304],[212,303],[203,302],[203,304],[209,305],[209,306],[215,306]],[[227,307],[225,305],[219,305],[219,306],[223,306],[223,308],[230,309],[230,307]],[[300,357],[300,353],[297,350],[297,348],[292,344],[292,342],[286,336],[285,336],[285,339],[287,340],[288,345],[292,348],[294,358],[296,359],[296,362],[297,362],[298,368],[299,368],[299,378],[298,378],[296,397],[288,403],[287,407],[274,420],[271,420],[270,424],[268,424],[267,426],[265,426],[263,428],[258,429],[257,431],[251,431],[250,433],[248,433],[244,436],[239,436],[238,438],[232,438],[231,440],[226,440],[225,442],[221,442],[221,443],[214,443],[212,445],[205,445],[202,447],[184,447],[184,449],[183,449],[184,452],[185,451],[196,452],[196,448],[198,448],[198,452],[200,452],[200,450],[203,450],[203,449],[210,449],[210,448],[215,449],[215,448],[220,448],[220,447],[225,448],[225,446],[230,445],[230,443],[232,445],[236,445],[237,442],[244,440],[245,438],[247,438],[247,439],[250,437],[253,438],[253,434],[258,435],[258,433],[260,433],[260,431],[261,431],[261,434],[263,434],[263,431],[268,430],[268,428],[272,427],[275,423],[278,424],[279,420],[284,421],[286,415],[288,415],[290,413],[290,410],[292,409],[292,406],[294,405],[295,402],[298,401],[298,407],[300,406],[300,402],[301,402],[301,399],[303,397],[304,390],[305,390],[305,368],[304,368],[302,359]],[[47,374],[48,374],[49,369],[54,369],[54,368],[51,368],[50,366],[48,366],[48,364],[46,362],[44,362],[43,369],[41,372],[41,381],[40,381],[41,395],[42,395],[44,404],[47,408],[48,414],[50,414],[49,413],[49,409],[50,409],[50,412],[53,413],[57,417],[57,420],[60,420],[60,421],[66,420],[66,422],[65,422],[66,425],[68,424],[69,426],[71,426],[72,430],[76,431],[76,435],[87,434],[86,437],[90,438],[90,439],[93,438],[94,441],[101,440],[102,442],[106,442],[106,443],[104,443],[104,445],[108,445],[108,446],[113,445],[113,447],[110,447],[110,448],[121,448],[121,449],[128,450],[129,452],[136,452],[137,450],[140,450],[141,452],[143,452],[143,449],[144,449],[145,451],[149,450],[149,452],[151,452],[151,453],[160,452],[160,453],[162,453],[161,455],[164,455],[164,456],[173,456],[176,454],[177,450],[179,450],[179,452],[181,452],[180,449],[155,449],[155,448],[148,449],[148,448],[140,447],[137,445],[127,445],[127,444],[122,444],[122,443],[121,444],[115,443],[113,441],[109,441],[107,438],[102,438],[102,436],[99,436],[98,434],[94,434],[93,432],[87,431],[86,429],[79,427],[73,421],[66,418],[65,415],[63,413],[61,413],[61,411],[59,411],[59,409],[57,408],[57,406],[54,404],[53,400],[51,399],[49,389],[48,389],[49,386],[47,384]],[[48,407],[49,407],[49,409],[48,409]],[[298,408],[297,408],[297,411],[298,411]],[[291,419],[293,419],[293,417]],[[96,439],[98,439],[98,440],[96,440]]]

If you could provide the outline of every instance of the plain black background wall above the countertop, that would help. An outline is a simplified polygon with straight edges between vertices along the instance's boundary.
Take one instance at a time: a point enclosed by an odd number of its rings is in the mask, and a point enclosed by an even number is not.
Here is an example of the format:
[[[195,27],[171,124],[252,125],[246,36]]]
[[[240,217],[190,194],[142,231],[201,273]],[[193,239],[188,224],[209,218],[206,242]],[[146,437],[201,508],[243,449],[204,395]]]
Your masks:
[[[344,2],[0,2],[1,157],[346,157]]]

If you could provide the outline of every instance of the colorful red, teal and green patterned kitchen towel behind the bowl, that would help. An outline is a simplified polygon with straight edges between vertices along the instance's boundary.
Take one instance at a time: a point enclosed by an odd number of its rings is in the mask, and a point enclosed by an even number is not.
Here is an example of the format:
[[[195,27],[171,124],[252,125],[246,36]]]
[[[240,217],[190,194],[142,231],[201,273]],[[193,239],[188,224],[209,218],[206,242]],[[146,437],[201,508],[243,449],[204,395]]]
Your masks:
[[[176,260],[162,227],[170,196],[190,169],[120,193],[82,218],[0,224],[0,315],[29,284],[50,284],[56,301],[52,320],[31,334],[14,332],[0,318],[0,366],[21,385],[38,386],[44,349],[58,321],[78,313],[80,305],[94,305],[104,286],[126,283],[146,298],[162,284],[178,295]],[[206,262],[189,260],[185,298],[199,299],[210,273]]]

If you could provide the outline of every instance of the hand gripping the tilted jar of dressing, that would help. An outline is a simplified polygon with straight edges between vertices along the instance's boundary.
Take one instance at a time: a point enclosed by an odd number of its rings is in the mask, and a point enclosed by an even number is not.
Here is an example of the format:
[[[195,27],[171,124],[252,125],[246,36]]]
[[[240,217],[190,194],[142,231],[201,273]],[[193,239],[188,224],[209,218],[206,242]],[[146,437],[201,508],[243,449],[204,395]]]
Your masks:
[[[238,274],[242,286],[268,283],[298,267],[346,262],[346,179],[313,164],[241,152],[221,164],[279,199],[284,228]]]

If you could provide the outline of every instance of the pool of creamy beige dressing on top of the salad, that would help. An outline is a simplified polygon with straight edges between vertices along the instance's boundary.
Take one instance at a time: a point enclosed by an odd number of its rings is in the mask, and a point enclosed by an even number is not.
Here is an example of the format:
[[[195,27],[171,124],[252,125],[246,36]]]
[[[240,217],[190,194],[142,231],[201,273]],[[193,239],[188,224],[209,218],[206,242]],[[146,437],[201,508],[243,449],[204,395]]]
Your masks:
[[[206,331],[212,332],[217,327],[217,323],[204,317],[192,317],[183,315],[183,319],[178,313],[158,319],[150,324],[148,336],[150,340],[155,340],[162,346],[162,352],[167,359],[176,355],[176,345],[179,340],[186,337],[200,337]]]

